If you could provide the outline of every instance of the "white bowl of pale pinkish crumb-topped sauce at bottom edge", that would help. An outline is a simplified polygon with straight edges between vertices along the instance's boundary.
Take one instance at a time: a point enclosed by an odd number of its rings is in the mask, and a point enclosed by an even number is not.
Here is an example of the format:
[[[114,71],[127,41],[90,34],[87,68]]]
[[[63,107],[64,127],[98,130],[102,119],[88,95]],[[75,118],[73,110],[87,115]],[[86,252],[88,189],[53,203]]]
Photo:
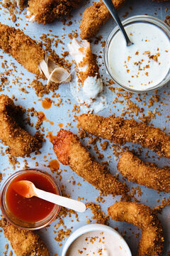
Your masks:
[[[132,256],[123,237],[106,225],[90,224],[76,230],[67,239],[62,256]]]

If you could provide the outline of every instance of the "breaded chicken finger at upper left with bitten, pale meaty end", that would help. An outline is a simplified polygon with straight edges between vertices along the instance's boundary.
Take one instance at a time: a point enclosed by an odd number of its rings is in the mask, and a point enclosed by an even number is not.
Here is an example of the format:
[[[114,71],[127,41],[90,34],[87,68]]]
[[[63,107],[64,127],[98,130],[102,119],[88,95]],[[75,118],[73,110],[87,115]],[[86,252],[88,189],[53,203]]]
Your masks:
[[[68,71],[47,58],[45,50],[20,29],[0,23],[0,48],[5,53],[10,53],[29,72],[41,78],[46,77],[57,83],[70,80]]]

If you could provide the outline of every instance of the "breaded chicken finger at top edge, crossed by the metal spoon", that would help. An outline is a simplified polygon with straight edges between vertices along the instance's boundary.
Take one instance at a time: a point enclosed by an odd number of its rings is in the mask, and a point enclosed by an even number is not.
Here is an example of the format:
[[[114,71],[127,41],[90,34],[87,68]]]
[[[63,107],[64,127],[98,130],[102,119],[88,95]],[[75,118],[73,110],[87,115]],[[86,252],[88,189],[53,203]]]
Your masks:
[[[125,0],[113,0],[115,9],[120,9],[125,3]],[[96,36],[101,26],[108,21],[111,17],[110,12],[106,8],[103,1],[100,0],[98,3],[94,2],[93,6],[88,7],[83,14],[83,18],[80,24],[80,36],[81,39],[89,39]]]

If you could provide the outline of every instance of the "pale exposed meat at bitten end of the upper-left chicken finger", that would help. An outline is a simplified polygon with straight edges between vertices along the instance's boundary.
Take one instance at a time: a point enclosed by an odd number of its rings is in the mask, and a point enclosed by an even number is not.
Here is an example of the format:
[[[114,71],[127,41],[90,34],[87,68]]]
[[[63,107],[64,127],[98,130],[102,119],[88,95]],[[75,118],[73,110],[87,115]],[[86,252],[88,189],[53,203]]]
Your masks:
[[[47,78],[47,85],[50,85],[50,82],[66,83],[71,80],[69,72],[65,68],[60,67],[60,65],[55,64],[47,55],[45,60],[41,61],[38,68]]]

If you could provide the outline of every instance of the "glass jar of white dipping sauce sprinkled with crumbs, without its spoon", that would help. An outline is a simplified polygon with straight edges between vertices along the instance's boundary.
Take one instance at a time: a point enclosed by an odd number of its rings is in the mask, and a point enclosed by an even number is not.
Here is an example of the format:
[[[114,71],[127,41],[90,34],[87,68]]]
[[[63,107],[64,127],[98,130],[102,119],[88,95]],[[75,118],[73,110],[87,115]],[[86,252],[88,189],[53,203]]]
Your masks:
[[[106,41],[104,60],[113,81],[131,92],[148,92],[170,80],[170,28],[152,16],[123,21],[132,46],[116,26]]]

